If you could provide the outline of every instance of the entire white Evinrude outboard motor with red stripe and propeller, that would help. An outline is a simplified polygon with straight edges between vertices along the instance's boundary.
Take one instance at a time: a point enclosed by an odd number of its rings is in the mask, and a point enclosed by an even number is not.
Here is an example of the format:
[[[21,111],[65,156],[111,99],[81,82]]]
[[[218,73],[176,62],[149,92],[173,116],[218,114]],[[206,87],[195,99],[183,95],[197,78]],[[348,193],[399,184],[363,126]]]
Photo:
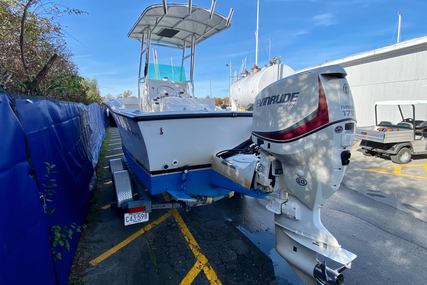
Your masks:
[[[355,136],[346,75],[334,65],[267,86],[254,104],[257,154],[238,154],[221,163],[216,158],[213,163],[214,170],[234,182],[245,181],[246,189],[252,179],[258,193],[279,192],[267,205],[275,213],[276,250],[308,285],[342,284],[341,272],[356,258],[320,220],[320,209],[341,184]],[[328,268],[317,254],[344,266]]]

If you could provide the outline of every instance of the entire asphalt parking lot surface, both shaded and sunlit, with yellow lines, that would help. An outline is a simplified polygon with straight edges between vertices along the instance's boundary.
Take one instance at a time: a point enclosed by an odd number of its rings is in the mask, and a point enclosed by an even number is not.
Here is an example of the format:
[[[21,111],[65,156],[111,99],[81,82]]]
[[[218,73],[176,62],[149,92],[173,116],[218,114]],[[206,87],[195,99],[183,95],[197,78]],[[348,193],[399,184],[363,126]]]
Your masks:
[[[273,214],[264,208],[273,194],[153,210],[149,222],[125,227],[108,172],[121,140],[117,128],[108,130],[102,222],[90,237],[85,284],[301,284],[274,249]],[[424,284],[426,179],[427,157],[402,166],[353,149],[340,190],[322,210],[326,228],[358,255],[345,284]]]

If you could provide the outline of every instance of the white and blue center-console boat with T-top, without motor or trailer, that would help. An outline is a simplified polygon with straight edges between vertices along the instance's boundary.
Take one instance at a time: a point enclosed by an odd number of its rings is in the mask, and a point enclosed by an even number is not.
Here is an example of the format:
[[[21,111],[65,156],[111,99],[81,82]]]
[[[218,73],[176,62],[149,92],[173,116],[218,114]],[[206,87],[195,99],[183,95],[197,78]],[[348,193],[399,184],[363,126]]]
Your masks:
[[[212,156],[251,136],[252,112],[219,110],[213,99],[195,96],[196,45],[231,26],[233,9],[225,17],[214,3],[210,9],[191,1],[147,7],[128,33],[141,41],[138,108],[127,108],[121,99],[104,101],[125,158],[152,195],[167,192],[184,201],[228,195],[232,191],[209,183]],[[154,45],[182,50],[181,66],[150,63]]]

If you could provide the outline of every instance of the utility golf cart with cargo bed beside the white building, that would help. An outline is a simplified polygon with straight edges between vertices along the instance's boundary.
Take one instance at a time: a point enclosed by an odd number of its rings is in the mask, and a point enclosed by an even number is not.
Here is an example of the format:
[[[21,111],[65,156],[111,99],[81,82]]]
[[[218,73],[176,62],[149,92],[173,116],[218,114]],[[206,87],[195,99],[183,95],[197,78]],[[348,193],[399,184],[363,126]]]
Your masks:
[[[391,121],[378,123],[378,106],[396,106],[402,121],[396,124]],[[427,117],[427,100],[376,102],[375,125],[356,130],[356,138],[362,140],[360,147],[363,153],[367,156],[390,156],[391,160],[398,164],[410,162],[414,154],[427,154],[427,120],[415,117],[421,108],[421,113]],[[415,112],[416,109],[418,113]],[[404,116],[404,111],[407,116]],[[392,112],[387,115],[390,113]]]

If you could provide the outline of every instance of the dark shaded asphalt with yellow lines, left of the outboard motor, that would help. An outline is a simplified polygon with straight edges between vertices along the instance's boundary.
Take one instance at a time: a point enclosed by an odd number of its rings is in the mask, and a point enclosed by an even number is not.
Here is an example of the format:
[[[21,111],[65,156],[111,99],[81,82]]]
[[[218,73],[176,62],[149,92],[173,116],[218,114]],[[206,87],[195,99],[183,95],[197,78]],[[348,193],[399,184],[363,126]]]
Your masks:
[[[154,210],[149,222],[125,227],[108,172],[108,160],[122,155],[121,140],[116,128],[109,131],[102,223],[92,237],[88,284],[277,284],[271,259],[231,218],[206,211],[215,204],[188,213]]]

